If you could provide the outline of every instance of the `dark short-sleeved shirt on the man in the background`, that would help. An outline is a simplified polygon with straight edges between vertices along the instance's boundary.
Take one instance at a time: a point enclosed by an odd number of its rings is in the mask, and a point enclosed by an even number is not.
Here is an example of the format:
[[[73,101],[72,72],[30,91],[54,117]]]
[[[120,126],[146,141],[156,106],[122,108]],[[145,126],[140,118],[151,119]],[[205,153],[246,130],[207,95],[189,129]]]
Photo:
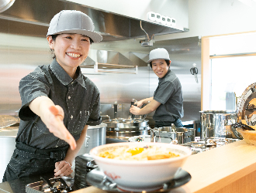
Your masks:
[[[183,117],[182,84],[178,77],[168,69],[163,78],[158,78],[158,86],[154,91],[154,100],[161,103],[154,113],[155,121],[175,121]]]

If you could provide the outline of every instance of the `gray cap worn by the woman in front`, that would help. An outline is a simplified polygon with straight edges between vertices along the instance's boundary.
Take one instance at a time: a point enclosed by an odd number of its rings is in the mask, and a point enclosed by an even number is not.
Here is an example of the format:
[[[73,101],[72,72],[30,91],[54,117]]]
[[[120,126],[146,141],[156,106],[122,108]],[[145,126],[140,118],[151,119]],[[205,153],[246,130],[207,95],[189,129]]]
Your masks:
[[[88,36],[93,42],[102,41],[102,36],[94,32],[94,29],[92,19],[85,13],[76,10],[62,10],[51,19],[47,36],[77,33]]]

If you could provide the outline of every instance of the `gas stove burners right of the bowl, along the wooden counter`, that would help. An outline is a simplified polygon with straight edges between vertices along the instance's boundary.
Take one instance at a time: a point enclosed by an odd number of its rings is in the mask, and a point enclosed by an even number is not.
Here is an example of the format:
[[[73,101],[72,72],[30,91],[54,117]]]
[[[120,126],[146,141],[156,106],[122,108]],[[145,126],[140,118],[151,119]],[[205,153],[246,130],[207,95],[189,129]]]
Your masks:
[[[199,139],[197,141],[191,141],[181,145],[189,147],[189,149],[192,150],[192,154],[198,154],[203,151],[209,151],[213,148],[221,147],[223,145],[230,144],[236,141],[239,140],[225,137],[209,137],[206,139]]]

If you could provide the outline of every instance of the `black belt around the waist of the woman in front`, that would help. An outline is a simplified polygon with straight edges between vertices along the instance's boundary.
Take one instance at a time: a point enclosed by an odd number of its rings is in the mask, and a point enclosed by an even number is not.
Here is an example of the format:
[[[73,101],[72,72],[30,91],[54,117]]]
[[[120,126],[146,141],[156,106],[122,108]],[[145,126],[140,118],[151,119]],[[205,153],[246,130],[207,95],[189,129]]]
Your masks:
[[[16,154],[23,157],[36,158],[36,159],[55,159],[56,161],[64,160],[66,156],[67,148],[69,145],[64,147],[50,148],[50,149],[37,149],[27,144],[17,141],[16,143]]]

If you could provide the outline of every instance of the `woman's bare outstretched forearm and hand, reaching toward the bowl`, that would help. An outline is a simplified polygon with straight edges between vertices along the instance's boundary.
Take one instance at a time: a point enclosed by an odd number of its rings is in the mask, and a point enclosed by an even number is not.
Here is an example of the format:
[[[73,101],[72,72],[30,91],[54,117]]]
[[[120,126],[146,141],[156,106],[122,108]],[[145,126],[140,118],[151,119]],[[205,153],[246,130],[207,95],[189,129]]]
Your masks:
[[[55,105],[50,98],[41,96],[36,97],[29,104],[29,108],[41,118],[54,136],[59,137],[61,140],[70,144],[71,150],[75,149],[76,142],[63,124],[64,110],[60,106]]]

